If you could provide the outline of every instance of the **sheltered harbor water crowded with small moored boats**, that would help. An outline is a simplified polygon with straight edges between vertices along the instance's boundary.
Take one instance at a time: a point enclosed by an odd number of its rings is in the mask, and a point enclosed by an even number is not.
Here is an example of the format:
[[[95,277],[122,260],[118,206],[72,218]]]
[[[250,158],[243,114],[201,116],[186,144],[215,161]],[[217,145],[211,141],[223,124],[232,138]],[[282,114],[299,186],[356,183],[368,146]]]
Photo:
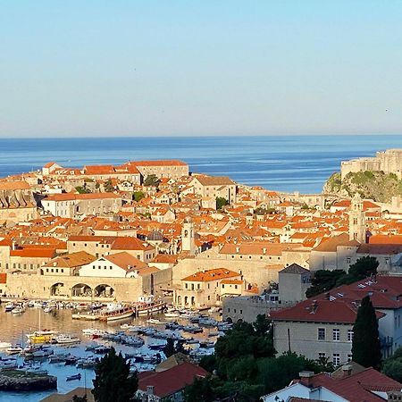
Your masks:
[[[110,348],[130,359],[132,371],[155,369],[165,356],[167,339],[180,342],[195,361],[214,353],[216,339],[230,328],[217,312],[175,310],[131,314],[113,320],[73,319],[74,314],[105,316],[111,306],[56,302],[10,302],[0,306],[0,368],[57,378],[57,390],[92,388],[94,368]],[[7,306],[7,308],[6,308]],[[112,311],[119,311],[121,306]],[[122,307],[122,310],[127,306]],[[40,323],[39,323],[40,322]],[[177,344],[176,342],[176,344]],[[0,390],[0,400],[38,401],[53,390]]]

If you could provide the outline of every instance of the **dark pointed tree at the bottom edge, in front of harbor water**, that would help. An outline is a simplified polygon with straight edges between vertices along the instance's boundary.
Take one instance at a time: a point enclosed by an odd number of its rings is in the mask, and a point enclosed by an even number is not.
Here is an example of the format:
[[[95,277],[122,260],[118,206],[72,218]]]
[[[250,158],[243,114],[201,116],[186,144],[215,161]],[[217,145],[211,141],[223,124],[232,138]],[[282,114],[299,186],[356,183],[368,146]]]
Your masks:
[[[94,389],[96,402],[127,402],[134,398],[138,389],[137,373],[130,373],[130,363],[114,348],[105,355],[95,368]]]

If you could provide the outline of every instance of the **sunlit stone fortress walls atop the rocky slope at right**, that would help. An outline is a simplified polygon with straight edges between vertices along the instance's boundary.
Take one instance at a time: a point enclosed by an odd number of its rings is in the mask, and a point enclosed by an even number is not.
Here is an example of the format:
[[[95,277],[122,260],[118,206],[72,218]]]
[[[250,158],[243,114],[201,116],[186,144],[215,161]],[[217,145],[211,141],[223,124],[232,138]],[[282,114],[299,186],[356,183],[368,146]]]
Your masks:
[[[365,171],[395,173],[399,180],[402,179],[402,149],[387,149],[386,151],[377,152],[375,157],[343,161],[340,166],[342,180],[350,172]]]

